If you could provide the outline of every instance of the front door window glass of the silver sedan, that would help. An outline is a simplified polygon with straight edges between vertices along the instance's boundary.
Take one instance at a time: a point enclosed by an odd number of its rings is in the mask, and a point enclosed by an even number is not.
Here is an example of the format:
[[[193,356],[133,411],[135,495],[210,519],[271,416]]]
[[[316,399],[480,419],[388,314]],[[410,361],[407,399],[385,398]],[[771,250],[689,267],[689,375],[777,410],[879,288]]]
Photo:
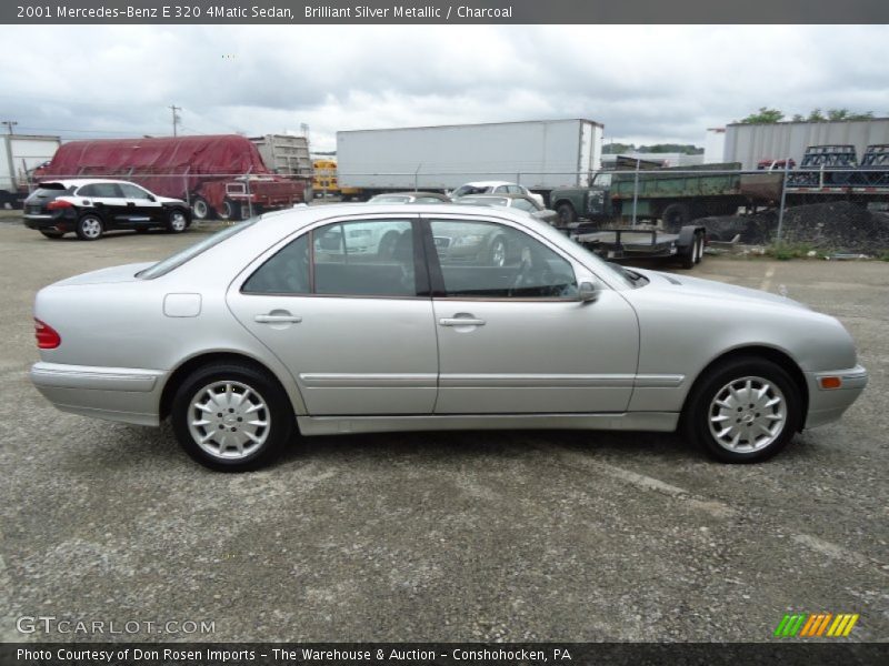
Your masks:
[[[432,220],[446,296],[558,299],[577,294],[571,264],[540,241],[493,222]]]

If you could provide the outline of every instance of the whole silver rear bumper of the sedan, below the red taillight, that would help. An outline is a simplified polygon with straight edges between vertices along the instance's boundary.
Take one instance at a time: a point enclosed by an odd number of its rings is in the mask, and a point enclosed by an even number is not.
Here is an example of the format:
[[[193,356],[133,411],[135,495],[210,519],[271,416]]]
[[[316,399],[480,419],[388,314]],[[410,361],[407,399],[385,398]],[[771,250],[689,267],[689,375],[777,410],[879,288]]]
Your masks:
[[[136,425],[159,425],[167,373],[139,367],[34,363],[31,381],[62,412]]]

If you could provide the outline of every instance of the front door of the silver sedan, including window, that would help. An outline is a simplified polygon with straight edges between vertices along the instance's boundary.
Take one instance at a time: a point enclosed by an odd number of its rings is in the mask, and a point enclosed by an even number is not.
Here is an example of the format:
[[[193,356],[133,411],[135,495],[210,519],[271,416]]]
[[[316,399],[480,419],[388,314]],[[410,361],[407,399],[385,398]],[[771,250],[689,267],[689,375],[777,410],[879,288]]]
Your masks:
[[[429,226],[437,414],[626,411],[639,331],[618,292],[581,303],[572,262],[506,223],[442,216]]]

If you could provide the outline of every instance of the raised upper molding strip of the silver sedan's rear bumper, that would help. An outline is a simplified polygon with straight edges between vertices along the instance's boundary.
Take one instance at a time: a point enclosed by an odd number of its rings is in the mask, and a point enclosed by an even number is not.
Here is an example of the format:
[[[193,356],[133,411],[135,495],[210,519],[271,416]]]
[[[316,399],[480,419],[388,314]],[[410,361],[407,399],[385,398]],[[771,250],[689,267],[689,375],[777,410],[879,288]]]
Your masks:
[[[31,381],[38,387],[86,389],[93,391],[153,391],[158,379],[164,373],[138,367],[96,367],[91,365],[63,365],[60,363],[34,363]]]

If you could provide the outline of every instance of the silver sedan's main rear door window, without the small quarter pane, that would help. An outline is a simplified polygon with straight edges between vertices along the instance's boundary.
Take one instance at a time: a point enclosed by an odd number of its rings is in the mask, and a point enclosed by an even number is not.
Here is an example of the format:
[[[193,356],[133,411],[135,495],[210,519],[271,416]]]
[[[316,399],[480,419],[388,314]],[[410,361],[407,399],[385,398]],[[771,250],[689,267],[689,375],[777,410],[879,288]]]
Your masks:
[[[316,294],[417,295],[410,221],[343,222],[312,235]]]

